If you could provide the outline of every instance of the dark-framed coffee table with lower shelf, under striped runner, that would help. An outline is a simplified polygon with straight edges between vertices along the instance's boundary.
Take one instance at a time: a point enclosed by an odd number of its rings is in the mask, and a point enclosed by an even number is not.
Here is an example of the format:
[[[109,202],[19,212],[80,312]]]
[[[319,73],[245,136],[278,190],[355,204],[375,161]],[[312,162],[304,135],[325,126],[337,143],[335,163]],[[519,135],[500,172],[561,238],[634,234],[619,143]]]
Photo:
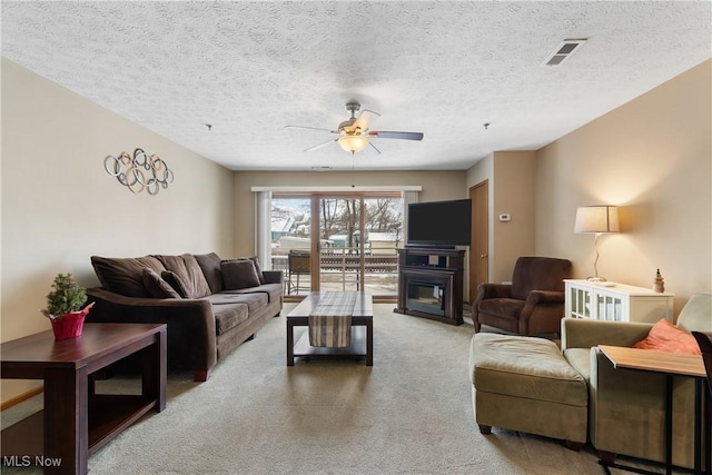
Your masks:
[[[294,366],[295,357],[344,358],[365,357],[366,366],[374,365],[374,307],[369,293],[355,291],[356,305],[352,315],[352,345],[346,348],[324,348],[309,345],[309,331],[305,331],[295,345],[294,327],[308,327],[309,314],[325,293],[309,293],[287,315],[287,366]]]

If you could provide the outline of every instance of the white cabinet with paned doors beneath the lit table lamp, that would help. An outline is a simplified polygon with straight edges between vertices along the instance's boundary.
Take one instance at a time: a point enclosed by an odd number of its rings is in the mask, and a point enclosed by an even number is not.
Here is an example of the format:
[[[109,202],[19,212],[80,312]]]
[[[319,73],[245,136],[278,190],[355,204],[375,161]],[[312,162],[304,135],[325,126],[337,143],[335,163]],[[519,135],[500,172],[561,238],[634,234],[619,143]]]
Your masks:
[[[617,283],[565,279],[565,316],[595,320],[672,321],[674,294]]]

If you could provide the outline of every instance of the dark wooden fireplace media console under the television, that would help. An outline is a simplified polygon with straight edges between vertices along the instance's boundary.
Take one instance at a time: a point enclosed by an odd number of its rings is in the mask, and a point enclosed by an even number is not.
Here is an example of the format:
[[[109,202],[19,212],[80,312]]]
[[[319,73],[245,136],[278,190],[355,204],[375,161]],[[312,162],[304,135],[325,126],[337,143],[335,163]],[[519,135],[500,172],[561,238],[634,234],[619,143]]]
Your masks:
[[[394,311],[462,325],[465,251],[406,247],[397,253],[398,304]]]

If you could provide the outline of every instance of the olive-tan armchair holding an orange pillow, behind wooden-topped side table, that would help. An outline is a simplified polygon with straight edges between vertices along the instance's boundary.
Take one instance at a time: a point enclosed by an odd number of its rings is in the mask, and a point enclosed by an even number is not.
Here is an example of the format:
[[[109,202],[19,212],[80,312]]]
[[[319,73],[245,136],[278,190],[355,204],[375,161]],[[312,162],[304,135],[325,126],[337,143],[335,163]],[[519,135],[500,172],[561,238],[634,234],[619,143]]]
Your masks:
[[[661,316],[662,317],[662,316]],[[589,437],[601,458],[616,454],[663,462],[664,387],[660,374],[615,369],[597,345],[633,346],[653,324],[564,318],[562,350],[589,382]],[[685,331],[712,331],[712,294],[695,294],[678,317]],[[673,464],[694,466],[694,380],[673,383]]]

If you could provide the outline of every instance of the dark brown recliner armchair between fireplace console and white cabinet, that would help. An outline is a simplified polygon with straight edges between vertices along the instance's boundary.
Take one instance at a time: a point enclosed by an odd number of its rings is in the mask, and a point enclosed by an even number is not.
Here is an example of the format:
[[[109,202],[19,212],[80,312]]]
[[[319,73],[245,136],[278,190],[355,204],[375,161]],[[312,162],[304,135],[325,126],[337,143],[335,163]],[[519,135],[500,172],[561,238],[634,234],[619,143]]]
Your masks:
[[[512,284],[481,284],[472,305],[475,333],[482,325],[518,335],[556,334],[564,316],[564,279],[571,261],[520,257]]]

